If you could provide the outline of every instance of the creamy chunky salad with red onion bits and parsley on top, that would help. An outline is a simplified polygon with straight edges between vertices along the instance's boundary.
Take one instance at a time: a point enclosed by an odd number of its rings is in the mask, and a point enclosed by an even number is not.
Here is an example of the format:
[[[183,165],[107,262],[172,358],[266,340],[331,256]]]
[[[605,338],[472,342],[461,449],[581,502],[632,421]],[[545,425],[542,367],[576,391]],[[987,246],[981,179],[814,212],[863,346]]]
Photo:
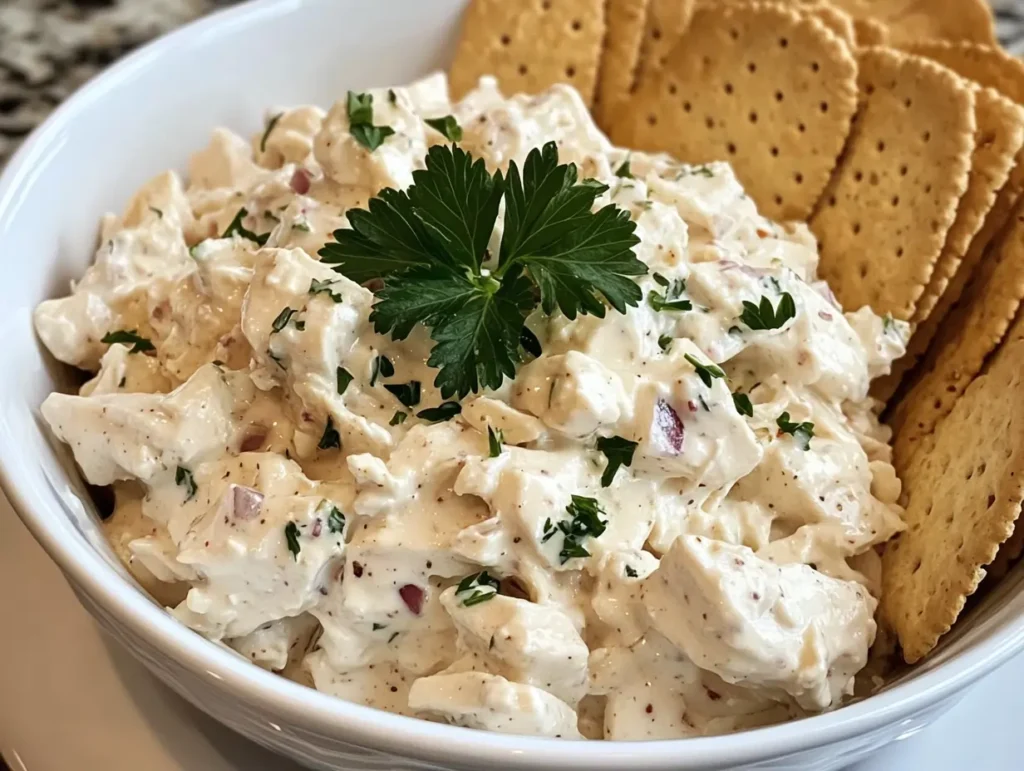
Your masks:
[[[93,373],[42,414],[131,573],[260,667],[493,731],[735,731],[852,691],[902,528],[867,390],[906,329],[816,266],[727,164],[433,76],[217,130],[109,215],[36,310]]]

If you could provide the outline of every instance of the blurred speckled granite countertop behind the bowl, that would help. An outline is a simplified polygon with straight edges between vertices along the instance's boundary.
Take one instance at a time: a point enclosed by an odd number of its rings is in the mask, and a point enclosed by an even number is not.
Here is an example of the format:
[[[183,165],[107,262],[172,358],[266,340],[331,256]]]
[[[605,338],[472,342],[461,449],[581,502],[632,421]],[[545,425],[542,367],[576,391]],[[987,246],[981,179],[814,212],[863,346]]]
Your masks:
[[[0,166],[54,106],[112,61],[237,1],[0,0]],[[1024,0],[992,4],[1004,44],[1024,53]]]

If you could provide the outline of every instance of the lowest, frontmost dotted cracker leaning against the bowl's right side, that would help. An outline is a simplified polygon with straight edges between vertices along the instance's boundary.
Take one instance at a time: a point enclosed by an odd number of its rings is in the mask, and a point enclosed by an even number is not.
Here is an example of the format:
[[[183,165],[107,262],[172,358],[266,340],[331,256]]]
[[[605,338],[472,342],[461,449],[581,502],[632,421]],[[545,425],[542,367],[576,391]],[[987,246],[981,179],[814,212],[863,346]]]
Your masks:
[[[907,529],[883,556],[882,614],[909,663],[949,631],[1024,498],[1024,344],[1006,350],[903,474]]]

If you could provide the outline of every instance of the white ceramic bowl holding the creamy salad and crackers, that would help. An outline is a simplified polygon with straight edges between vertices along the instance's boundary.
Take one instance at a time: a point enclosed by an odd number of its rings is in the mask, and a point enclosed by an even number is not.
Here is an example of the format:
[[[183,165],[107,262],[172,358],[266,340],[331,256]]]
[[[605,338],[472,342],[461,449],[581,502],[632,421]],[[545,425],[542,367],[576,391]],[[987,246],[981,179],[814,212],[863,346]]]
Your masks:
[[[214,126],[249,134],[269,105],[327,106],[348,87],[443,67],[464,4],[250,3],[146,46],[32,135],[0,177],[0,476],[14,508],[86,608],[158,677],[229,727],[316,768],[834,769],[916,731],[1024,649],[1024,591],[1013,586],[1024,573],[972,610],[924,666],[838,712],[733,736],[578,743],[412,720],[265,673],[172,619],[108,548],[70,456],[38,417],[45,395],[70,382],[35,338],[33,307],[84,270],[99,216],[119,211],[150,176],[181,168]]]

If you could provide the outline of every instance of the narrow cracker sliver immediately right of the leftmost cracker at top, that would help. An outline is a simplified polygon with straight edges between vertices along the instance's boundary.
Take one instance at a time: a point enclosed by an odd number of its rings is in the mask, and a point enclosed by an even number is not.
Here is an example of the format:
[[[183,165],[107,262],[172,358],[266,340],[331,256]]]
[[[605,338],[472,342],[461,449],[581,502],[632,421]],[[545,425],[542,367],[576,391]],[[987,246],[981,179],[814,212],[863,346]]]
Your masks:
[[[615,105],[633,88],[649,3],[650,0],[608,0],[605,6],[608,29],[594,97],[595,117],[603,128],[611,125]]]

